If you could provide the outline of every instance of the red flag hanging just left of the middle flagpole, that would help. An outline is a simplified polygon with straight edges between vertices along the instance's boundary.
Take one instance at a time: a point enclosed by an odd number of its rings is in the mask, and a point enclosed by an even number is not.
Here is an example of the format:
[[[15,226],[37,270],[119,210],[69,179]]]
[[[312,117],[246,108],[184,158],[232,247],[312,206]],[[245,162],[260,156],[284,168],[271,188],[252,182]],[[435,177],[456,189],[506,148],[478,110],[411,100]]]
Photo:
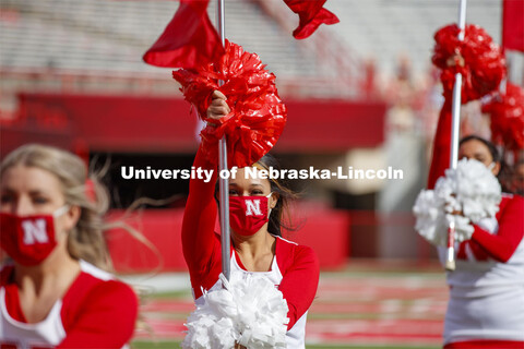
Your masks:
[[[144,53],[152,65],[190,69],[224,55],[221,38],[207,16],[210,0],[180,0],[171,22]]]

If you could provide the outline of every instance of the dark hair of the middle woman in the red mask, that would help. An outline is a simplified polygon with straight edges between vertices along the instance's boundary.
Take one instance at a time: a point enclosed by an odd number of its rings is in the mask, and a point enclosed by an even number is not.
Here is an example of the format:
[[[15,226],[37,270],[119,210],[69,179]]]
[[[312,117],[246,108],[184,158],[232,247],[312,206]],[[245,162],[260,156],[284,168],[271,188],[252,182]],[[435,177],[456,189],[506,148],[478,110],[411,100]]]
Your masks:
[[[265,154],[260,160],[252,165],[259,169],[269,170],[270,167],[281,172],[281,164],[271,154]],[[297,194],[291,191],[283,179],[269,178],[271,192],[277,194],[275,207],[271,210],[267,231],[274,236],[282,237],[282,228],[293,231],[295,227],[291,222],[290,206],[297,198]],[[218,182],[215,185],[215,201],[218,204]],[[218,205],[219,206],[219,205]]]

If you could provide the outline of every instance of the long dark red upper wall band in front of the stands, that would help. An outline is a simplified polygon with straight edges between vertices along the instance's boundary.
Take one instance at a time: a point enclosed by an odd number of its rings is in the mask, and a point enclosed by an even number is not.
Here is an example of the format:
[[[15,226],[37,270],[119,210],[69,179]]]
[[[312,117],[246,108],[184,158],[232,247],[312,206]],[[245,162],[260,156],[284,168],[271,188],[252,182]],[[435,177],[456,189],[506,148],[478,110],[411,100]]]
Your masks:
[[[95,152],[191,153],[196,118],[183,99],[151,96],[21,94],[19,118],[2,123],[2,153],[53,136]],[[285,100],[277,152],[340,152],[383,143],[385,105],[349,100]],[[38,133],[38,136],[37,136]],[[47,136],[47,139],[46,139]]]

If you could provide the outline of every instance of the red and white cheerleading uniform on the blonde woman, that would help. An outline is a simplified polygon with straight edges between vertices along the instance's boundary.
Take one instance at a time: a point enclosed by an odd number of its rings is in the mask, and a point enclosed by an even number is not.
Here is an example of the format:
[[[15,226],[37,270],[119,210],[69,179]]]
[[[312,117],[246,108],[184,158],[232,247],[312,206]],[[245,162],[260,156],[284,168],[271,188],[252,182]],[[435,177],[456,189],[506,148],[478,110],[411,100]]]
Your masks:
[[[27,323],[14,284],[14,267],[0,272],[0,348],[126,348],[138,315],[138,299],[111,274],[80,261],[81,273],[41,322]]]

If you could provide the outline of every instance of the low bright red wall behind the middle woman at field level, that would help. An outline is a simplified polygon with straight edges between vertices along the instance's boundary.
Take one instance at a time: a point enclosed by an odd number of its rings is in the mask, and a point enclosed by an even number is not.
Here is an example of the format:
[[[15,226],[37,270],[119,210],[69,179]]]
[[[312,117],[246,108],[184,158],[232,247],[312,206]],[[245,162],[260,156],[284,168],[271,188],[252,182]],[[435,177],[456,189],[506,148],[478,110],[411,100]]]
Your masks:
[[[321,268],[343,267],[348,251],[348,214],[307,205],[299,210],[307,219],[298,231],[285,238],[311,246]],[[116,269],[121,273],[187,270],[180,237],[182,215],[183,209],[146,209],[124,220],[147,238],[155,252],[122,229],[108,231],[106,236]],[[112,219],[121,219],[121,216],[122,212],[111,214]]]

